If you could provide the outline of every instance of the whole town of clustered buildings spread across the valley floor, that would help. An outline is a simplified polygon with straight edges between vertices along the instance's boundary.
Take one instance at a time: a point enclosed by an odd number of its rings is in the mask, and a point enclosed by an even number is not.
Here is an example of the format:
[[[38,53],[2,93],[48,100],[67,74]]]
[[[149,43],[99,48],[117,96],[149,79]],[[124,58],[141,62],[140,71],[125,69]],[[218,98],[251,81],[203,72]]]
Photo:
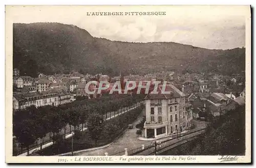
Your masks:
[[[86,85],[91,81],[97,81],[98,83],[100,81],[108,81],[110,87],[100,92],[100,94],[98,92],[92,92],[92,94],[90,94],[86,92]],[[187,72],[181,74],[174,71],[156,72],[145,74],[144,76],[139,74],[124,76],[121,73],[119,76],[109,76],[108,74],[102,73],[94,75],[88,73],[81,74],[74,70],[69,74],[45,75],[39,73],[38,77],[33,78],[31,76],[20,75],[19,70],[14,69],[13,113],[15,115],[26,109],[31,110],[32,106],[34,106],[35,109],[44,108],[45,106],[54,106],[56,107],[56,109],[54,109],[57,110],[57,107],[64,109],[68,106],[72,106],[72,104],[76,102],[79,103],[81,100],[100,101],[100,99],[109,96],[111,88],[116,81],[120,81],[122,89],[124,89],[125,83],[129,81],[135,81],[136,83],[139,81],[152,81],[152,86],[154,86],[154,81],[161,81],[160,85],[157,87],[158,91],[161,91],[163,88],[162,84],[166,83],[165,90],[169,91],[168,94],[156,94],[152,92],[154,87],[151,87],[150,92],[152,93],[146,94],[144,92],[136,97],[138,90],[138,86],[136,86],[134,89],[126,92],[126,95],[130,95],[133,97],[132,99],[136,100],[128,103],[126,106],[118,106],[116,108],[117,110],[124,107],[124,110],[129,111],[129,106],[134,103],[138,104],[138,102],[142,102],[140,108],[143,109],[143,117],[140,120],[141,123],[137,124],[141,125],[138,127],[140,129],[139,139],[141,140],[152,139],[152,141],[155,141],[155,139],[186,133],[188,130],[195,127],[195,124],[193,124],[195,120],[198,122],[210,122],[212,119],[224,115],[228,110],[245,105],[244,72],[241,72],[241,74],[232,74],[231,76],[216,73],[189,74]],[[98,89],[99,85],[97,83],[89,87],[90,91],[97,91]],[[119,92],[114,92],[113,94],[118,96],[118,93]],[[118,97],[115,99],[118,99]],[[65,104],[67,106],[63,106]],[[103,108],[103,106],[99,108]],[[113,109],[113,111],[114,110],[115,109]],[[109,109],[109,111],[111,111],[111,109]],[[80,111],[78,111],[78,113],[80,113]],[[81,114],[78,114],[78,118],[80,117]],[[115,112],[114,115],[112,113],[105,113],[105,121],[111,120],[113,117],[116,117]],[[74,131],[76,126],[79,128],[80,124],[83,124],[83,122],[70,124],[74,127],[72,129],[70,126],[69,131]],[[18,126],[18,123],[14,123],[14,127],[15,125]],[[86,125],[88,125],[88,122],[84,122],[84,128],[86,128]],[[82,131],[84,128],[82,125]],[[61,128],[57,128],[55,133],[59,132],[60,129]],[[65,133],[62,133],[64,138],[66,138],[67,132],[65,126]],[[54,135],[57,136],[57,134],[53,133],[53,136]],[[16,136],[18,136],[18,134],[13,135],[13,142],[17,146],[17,149],[19,149],[16,155],[20,155],[23,153],[20,146],[24,144],[21,144],[20,142],[22,141],[19,140],[20,137]],[[30,155],[29,150],[34,148],[42,150],[42,145],[46,143],[42,140],[44,136],[45,134],[38,136],[40,138],[35,138],[30,144],[25,145],[28,148],[28,152],[25,154]],[[71,136],[73,136],[73,133]],[[45,141],[47,140],[45,139]],[[51,137],[50,133],[48,142],[51,141],[54,142],[55,139]],[[38,145],[41,145],[41,147],[38,147]]]

